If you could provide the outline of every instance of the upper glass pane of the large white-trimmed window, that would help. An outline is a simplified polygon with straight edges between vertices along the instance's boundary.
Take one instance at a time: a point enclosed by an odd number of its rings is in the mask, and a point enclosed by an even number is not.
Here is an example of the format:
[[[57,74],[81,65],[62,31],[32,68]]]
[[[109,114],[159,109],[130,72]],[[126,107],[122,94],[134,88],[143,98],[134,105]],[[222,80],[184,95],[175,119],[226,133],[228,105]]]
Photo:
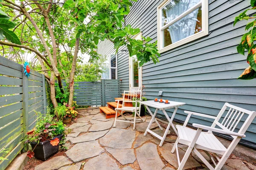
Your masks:
[[[201,0],[172,0],[162,9],[162,26],[170,23],[200,1]]]

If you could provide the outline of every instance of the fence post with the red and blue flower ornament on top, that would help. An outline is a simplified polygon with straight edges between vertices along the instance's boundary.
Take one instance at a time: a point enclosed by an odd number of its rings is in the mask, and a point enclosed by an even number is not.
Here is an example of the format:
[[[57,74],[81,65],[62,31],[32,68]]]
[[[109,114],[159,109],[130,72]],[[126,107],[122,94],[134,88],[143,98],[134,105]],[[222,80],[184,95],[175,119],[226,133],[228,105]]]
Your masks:
[[[23,73],[24,73],[25,69],[23,68]],[[26,135],[26,132],[29,130],[29,80],[28,77],[26,77],[25,74],[23,74],[22,77],[22,81],[23,81],[23,102],[22,102],[22,106],[23,106],[23,132],[24,132],[24,136]]]

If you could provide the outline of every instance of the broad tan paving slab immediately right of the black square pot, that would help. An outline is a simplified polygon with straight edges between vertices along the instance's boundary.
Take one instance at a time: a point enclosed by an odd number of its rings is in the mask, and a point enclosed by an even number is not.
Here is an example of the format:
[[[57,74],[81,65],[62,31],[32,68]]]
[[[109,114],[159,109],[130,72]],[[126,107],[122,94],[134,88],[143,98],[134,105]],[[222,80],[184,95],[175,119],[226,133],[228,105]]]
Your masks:
[[[66,155],[74,162],[97,156],[105,150],[100,146],[98,140],[75,144]]]

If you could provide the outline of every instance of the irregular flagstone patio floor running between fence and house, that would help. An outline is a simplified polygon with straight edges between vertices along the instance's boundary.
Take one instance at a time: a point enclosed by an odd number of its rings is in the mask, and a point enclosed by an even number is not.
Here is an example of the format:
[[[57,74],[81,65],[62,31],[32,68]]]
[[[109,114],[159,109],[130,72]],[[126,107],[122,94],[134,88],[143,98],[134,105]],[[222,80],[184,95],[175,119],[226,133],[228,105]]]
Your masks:
[[[177,136],[172,136],[170,131],[159,147],[159,139],[150,134],[143,136],[151,117],[143,119],[144,122],[136,124],[137,130],[133,130],[133,125],[127,122],[116,122],[113,127],[114,119],[105,119],[99,109],[80,110],[76,122],[67,127],[72,133],[67,135],[68,150],[64,156],[53,156],[35,170],[176,170],[176,153],[171,153],[171,149]],[[155,133],[163,133],[157,125],[151,127]],[[181,159],[186,146],[180,145],[179,150]],[[185,169],[207,170],[193,153]],[[222,169],[253,170],[256,167],[231,156]]]

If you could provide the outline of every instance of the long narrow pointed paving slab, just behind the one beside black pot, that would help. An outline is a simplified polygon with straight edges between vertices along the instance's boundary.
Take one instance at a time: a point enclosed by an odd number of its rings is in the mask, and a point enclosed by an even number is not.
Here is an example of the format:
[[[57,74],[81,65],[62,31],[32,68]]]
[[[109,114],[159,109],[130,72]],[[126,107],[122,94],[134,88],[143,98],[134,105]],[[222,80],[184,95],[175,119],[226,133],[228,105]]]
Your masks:
[[[106,133],[108,133],[108,130],[85,133],[84,135],[77,136],[76,138],[72,138],[69,140],[70,140],[71,144],[76,144],[76,143],[80,143],[80,142],[88,142],[88,141],[96,140],[96,139],[104,136]]]

